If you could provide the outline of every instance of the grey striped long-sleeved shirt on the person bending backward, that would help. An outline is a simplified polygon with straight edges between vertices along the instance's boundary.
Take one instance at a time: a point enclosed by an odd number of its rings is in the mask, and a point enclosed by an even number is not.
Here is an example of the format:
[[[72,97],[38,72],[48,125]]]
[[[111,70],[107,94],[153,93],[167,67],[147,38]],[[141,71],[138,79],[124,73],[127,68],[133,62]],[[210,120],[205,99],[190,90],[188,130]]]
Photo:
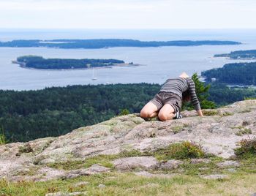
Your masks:
[[[159,92],[171,92],[182,99],[182,93],[185,91],[189,92],[195,110],[200,110],[200,102],[195,94],[195,83],[191,78],[170,78],[165,81]]]

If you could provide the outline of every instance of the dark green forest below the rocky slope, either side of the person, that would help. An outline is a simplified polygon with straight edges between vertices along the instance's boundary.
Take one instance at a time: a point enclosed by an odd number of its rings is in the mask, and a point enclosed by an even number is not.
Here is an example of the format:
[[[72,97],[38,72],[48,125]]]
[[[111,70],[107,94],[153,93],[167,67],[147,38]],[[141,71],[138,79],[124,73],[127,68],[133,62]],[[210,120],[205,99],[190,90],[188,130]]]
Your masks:
[[[0,90],[0,135],[5,135],[7,142],[24,142],[64,135],[121,113],[139,113],[159,88],[159,84],[138,83],[52,87],[37,91]],[[197,96],[199,99],[208,97],[217,107],[256,97],[255,89],[236,90],[217,83],[207,90],[206,96],[198,93]],[[210,107],[214,107],[211,102]],[[205,102],[202,106],[209,108]]]

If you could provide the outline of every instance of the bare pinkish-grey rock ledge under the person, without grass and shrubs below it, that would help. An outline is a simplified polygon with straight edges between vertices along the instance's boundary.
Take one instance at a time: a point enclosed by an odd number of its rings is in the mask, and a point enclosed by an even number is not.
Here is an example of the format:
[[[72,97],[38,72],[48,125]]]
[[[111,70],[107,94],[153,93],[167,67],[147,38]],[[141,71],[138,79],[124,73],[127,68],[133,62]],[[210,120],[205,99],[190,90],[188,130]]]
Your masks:
[[[0,146],[0,178],[11,181],[46,181],[53,178],[74,178],[108,172],[108,167],[63,170],[50,165],[61,162],[86,162],[99,155],[123,151],[150,153],[172,143],[190,141],[202,146],[208,154],[229,159],[234,156],[238,141],[256,135],[256,100],[246,100],[216,110],[203,110],[200,118],[195,111],[184,111],[184,118],[171,121],[145,121],[137,114],[118,116],[99,124],[75,129],[60,137],[47,137],[27,143]],[[207,159],[192,160],[208,162]],[[127,157],[111,160],[117,170],[177,168],[181,161],[159,162],[154,157]],[[221,163],[224,167],[227,162]],[[238,163],[233,163],[238,165]],[[144,171],[143,171],[144,172]],[[144,172],[145,173],[145,172]]]

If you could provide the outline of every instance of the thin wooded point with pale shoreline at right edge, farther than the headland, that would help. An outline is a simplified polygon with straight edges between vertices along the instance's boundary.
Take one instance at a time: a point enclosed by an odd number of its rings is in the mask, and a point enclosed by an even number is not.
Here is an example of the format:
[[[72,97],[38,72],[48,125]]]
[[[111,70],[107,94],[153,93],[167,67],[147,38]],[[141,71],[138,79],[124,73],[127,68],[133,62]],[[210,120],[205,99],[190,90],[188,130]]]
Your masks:
[[[256,59],[256,50],[237,50],[231,53],[216,54],[214,57],[227,57],[230,59]]]

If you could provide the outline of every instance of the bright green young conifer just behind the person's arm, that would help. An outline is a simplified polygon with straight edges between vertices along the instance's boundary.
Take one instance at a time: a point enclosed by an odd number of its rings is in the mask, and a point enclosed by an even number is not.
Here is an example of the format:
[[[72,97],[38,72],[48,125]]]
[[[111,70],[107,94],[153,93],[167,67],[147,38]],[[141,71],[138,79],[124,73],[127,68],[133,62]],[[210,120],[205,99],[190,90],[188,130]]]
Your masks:
[[[202,109],[212,109],[216,108],[215,102],[211,102],[208,100],[209,94],[209,88],[211,87],[210,84],[205,86],[205,83],[201,82],[199,80],[199,77],[197,73],[192,75],[192,80],[195,83],[195,92],[197,94],[197,98],[200,102],[200,106]],[[193,110],[194,107],[190,102],[184,103],[182,106],[182,110]]]

